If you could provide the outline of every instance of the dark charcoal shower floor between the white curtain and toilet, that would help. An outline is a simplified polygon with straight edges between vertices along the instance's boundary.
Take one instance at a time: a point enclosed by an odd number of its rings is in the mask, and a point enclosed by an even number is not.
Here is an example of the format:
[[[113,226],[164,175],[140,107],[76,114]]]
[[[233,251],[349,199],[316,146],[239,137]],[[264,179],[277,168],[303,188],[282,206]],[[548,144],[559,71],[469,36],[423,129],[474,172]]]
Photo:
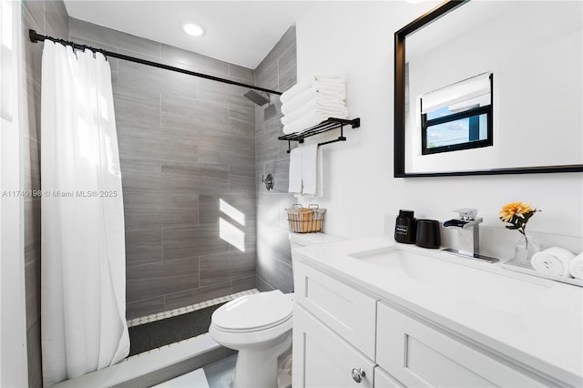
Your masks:
[[[210,315],[224,303],[129,328],[129,355],[209,332]]]

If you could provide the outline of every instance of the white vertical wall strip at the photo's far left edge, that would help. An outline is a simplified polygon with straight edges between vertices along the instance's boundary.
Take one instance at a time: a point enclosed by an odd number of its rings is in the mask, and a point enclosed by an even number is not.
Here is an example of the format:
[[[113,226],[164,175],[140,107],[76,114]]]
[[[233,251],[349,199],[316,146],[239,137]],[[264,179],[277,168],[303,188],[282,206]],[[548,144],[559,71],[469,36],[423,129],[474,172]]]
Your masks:
[[[0,2],[0,386],[28,386],[25,257],[20,138],[22,42],[20,3]],[[26,89],[25,89],[26,90]],[[6,93],[7,92],[7,93]]]

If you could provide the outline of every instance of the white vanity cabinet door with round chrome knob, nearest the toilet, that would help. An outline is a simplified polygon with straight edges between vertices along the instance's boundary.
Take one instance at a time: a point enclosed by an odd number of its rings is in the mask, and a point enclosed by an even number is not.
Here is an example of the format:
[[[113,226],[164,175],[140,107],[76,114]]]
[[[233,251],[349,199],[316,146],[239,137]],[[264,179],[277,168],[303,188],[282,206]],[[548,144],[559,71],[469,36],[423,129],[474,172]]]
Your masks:
[[[364,372],[357,383],[353,369]],[[298,304],[293,306],[292,386],[373,387],[374,363]]]

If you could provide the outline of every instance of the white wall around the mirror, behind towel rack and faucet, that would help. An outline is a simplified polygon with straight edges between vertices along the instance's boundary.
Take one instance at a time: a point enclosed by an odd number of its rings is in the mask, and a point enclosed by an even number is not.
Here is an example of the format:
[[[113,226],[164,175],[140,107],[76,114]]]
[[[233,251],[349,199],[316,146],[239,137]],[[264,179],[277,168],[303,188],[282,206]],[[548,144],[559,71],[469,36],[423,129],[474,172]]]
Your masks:
[[[394,32],[433,6],[322,2],[298,20],[298,79],[343,73],[351,117],[362,121],[361,128],[346,129],[348,141],[323,148],[324,197],[304,202],[328,209],[325,231],[345,238],[392,234],[399,209],[444,221],[455,216],[453,209],[477,208],[485,219],[485,253],[512,256],[519,233],[504,229],[497,214],[520,200],[543,209],[527,230],[540,234],[544,245],[583,250],[583,173],[393,178]],[[445,244],[452,242],[450,234],[445,232]]]

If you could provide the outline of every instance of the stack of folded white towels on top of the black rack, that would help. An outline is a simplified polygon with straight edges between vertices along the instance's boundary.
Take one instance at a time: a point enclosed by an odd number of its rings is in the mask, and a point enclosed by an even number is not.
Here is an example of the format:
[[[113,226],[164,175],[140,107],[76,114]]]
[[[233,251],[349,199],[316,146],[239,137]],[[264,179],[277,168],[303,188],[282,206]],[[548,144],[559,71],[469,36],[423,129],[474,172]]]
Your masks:
[[[347,118],[345,99],[343,77],[311,74],[280,97],[283,133],[302,132],[329,117]]]

